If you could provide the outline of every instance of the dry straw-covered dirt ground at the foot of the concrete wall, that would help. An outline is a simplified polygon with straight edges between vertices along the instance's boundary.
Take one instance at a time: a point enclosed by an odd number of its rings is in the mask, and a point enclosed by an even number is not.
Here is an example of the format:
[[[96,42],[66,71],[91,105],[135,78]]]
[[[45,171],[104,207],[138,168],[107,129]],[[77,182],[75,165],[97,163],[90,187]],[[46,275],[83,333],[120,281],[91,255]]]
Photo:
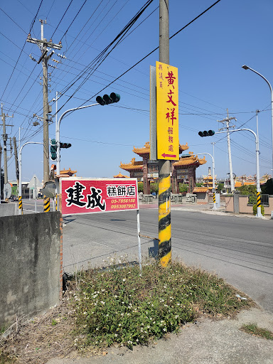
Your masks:
[[[59,306],[26,323],[9,328],[0,341],[0,363],[43,364],[75,350],[73,311],[64,297]],[[5,358],[5,359],[4,359]],[[15,361],[16,360],[16,361]]]

